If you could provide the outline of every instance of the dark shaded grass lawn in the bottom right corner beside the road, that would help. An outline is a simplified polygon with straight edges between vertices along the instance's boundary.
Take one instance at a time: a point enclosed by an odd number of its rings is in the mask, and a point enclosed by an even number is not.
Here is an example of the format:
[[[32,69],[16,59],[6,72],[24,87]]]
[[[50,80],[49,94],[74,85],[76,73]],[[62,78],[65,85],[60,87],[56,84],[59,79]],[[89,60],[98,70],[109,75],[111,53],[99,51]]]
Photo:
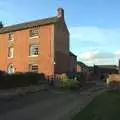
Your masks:
[[[72,120],[120,120],[120,92],[99,94]]]

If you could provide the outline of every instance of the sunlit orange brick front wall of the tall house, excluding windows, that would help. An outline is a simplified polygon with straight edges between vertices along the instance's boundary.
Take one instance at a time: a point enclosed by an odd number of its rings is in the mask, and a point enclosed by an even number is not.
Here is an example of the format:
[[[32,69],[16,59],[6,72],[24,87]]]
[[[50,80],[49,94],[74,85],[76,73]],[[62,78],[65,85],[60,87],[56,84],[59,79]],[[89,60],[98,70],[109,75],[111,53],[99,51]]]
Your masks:
[[[16,72],[27,72],[29,64],[39,64],[39,72],[53,74],[53,55],[51,41],[53,40],[53,25],[39,27],[39,37],[30,39],[29,29],[14,32],[14,41],[8,42],[8,33],[0,34],[0,69],[7,71],[13,64]],[[39,56],[29,57],[29,45],[39,44]],[[14,47],[13,58],[8,58],[8,46]]]

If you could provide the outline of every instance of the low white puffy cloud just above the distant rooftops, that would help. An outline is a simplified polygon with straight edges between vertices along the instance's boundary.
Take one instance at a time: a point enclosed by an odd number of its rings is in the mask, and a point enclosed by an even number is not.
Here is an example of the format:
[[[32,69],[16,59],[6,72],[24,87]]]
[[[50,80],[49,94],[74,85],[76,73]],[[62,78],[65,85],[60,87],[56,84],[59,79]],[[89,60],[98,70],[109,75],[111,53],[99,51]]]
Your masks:
[[[84,62],[87,65],[106,65],[117,64],[118,59],[114,53],[100,52],[100,51],[88,51],[78,54],[78,60]]]

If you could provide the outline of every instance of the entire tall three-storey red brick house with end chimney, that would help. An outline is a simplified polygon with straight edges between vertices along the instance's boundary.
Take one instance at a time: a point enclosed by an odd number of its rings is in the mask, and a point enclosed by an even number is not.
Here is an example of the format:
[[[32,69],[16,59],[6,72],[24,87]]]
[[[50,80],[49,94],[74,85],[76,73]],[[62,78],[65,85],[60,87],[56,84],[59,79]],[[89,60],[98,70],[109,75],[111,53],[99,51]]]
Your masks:
[[[0,25],[0,70],[61,74],[75,70],[74,58],[69,50],[69,31],[62,8],[58,8],[54,17]]]

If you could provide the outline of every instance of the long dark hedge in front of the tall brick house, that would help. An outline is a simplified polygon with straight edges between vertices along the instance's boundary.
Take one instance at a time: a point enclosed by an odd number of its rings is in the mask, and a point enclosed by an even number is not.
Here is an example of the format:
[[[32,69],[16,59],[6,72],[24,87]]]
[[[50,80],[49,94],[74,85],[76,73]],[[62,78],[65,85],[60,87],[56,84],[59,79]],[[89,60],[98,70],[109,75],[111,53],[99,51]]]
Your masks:
[[[1,74],[1,73],[0,73]],[[38,83],[45,83],[45,76],[44,74],[39,73],[15,73],[15,74],[4,74],[0,75],[0,89],[9,89],[9,88],[16,88],[22,86],[29,86]]]

